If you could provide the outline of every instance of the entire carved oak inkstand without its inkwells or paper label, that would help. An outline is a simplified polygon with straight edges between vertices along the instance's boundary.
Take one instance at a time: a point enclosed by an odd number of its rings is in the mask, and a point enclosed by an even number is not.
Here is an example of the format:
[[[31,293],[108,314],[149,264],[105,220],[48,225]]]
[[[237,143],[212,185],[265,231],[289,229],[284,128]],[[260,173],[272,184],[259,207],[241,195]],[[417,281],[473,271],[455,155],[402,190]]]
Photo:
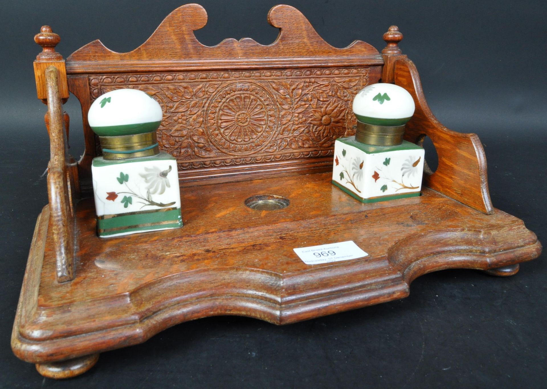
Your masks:
[[[434,270],[515,274],[540,254],[522,221],[492,207],[478,137],[450,131],[430,112],[397,27],[384,34],[380,54],[360,41],[333,48],[288,5],[268,14],[280,28],[268,46],[248,38],[203,46],[193,31],[206,20],[199,5],[183,5],[131,52],[96,40],[66,63],[49,27],[35,37],[43,46],[34,63],[38,98],[48,104],[49,205],[34,232],[12,347],[41,374],[81,374],[100,352],[199,317],[285,324],[403,298],[413,279]],[[332,186],[329,172],[334,140],[353,134],[353,97],[380,80],[414,97],[405,137],[430,137],[439,164],[422,196],[362,204]],[[87,113],[102,93],[127,87],[164,110],[158,140],[177,158],[184,227],[100,239],[92,200],[79,199],[101,152]],[[67,152],[68,91],[82,104],[78,163]],[[254,121],[238,122],[245,115]],[[227,126],[247,135],[228,137]],[[246,207],[257,194],[290,205]],[[308,266],[292,251],[346,240],[369,255]]]

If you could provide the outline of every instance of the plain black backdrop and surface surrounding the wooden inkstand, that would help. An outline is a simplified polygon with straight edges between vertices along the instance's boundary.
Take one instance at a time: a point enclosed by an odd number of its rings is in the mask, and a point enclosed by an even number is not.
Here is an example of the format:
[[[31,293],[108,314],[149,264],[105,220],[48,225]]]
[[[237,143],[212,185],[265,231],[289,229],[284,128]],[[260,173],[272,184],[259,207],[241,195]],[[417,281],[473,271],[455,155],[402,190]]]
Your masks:
[[[48,202],[45,105],[36,99],[33,36],[48,24],[66,58],[100,38],[130,51],[177,1],[2,2],[0,15],[0,386],[2,387],[547,387],[543,258],[509,278],[446,270],[418,278],[410,297],[277,327],[244,317],[183,323],[146,343],[103,353],[90,372],[42,378],[9,339],[34,223]],[[270,44],[269,1],[201,0],[203,44],[252,37]],[[484,143],[494,207],[545,228],[545,2],[289,1],[331,45],[381,50],[394,24],[438,119]],[[73,97],[72,154],[83,151]],[[364,247],[366,250],[366,247]],[[543,256],[544,257],[544,256]]]

